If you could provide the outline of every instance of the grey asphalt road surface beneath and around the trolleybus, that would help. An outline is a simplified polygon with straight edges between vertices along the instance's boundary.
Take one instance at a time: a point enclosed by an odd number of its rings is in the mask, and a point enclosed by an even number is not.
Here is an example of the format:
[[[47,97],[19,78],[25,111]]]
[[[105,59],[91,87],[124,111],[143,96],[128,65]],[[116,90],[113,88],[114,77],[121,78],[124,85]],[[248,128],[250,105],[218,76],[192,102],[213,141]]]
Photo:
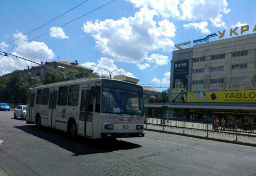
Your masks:
[[[255,147],[145,131],[73,141],[0,111],[1,176],[256,175]]]

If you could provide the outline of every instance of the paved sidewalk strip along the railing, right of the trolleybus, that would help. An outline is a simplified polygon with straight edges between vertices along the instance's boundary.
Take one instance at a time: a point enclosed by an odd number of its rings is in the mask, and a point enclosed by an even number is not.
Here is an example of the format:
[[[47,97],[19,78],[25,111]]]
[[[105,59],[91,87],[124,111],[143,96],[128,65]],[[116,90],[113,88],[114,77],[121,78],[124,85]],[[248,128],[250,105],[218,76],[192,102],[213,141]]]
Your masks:
[[[256,136],[248,136],[248,135],[246,136],[246,135],[238,134],[237,141],[236,141],[236,131],[233,132],[233,131],[209,130],[208,137],[207,137],[207,131],[205,130],[185,128],[183,131],[183,128],[172,127],[172,126],[147,124],[147,125],[144,125],[144,130],[256,147]]]

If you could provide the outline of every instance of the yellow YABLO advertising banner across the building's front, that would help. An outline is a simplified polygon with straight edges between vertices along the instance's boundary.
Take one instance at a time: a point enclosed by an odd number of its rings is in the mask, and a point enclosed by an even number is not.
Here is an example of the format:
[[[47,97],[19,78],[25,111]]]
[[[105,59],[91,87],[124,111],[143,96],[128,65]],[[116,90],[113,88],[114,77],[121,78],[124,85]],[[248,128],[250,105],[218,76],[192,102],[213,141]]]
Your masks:
[[[188,92],[187,102],[256,103],[256,90]]]

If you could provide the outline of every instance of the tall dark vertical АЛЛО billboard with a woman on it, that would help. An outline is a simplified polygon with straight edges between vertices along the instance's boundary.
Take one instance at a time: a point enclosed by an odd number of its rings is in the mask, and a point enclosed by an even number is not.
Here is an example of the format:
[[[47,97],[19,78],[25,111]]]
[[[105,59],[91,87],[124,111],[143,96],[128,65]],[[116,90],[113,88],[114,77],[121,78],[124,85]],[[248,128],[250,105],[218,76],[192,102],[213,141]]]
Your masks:
[[[174,62],[171,102],[187,102],[188,60]]]

